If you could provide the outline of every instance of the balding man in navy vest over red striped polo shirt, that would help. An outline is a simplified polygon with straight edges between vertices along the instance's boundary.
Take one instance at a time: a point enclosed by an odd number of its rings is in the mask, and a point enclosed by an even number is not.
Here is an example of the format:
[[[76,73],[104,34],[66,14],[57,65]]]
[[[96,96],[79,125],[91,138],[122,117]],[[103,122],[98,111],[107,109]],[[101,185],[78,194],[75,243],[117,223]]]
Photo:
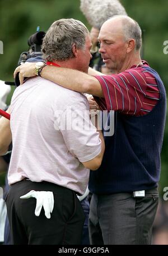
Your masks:
[[[106,21],[99,42],[102,59],[114,74],[46,66],[41,76],[90,93],[101,110],[115,111],[114,134],[105,136],[101,167],[90,174],[91,244],[151,244],[166,116],[164,84],[141,60],[141,28],[130,17]],[[22,83],[35,75],[35,64],[18,71]]]

